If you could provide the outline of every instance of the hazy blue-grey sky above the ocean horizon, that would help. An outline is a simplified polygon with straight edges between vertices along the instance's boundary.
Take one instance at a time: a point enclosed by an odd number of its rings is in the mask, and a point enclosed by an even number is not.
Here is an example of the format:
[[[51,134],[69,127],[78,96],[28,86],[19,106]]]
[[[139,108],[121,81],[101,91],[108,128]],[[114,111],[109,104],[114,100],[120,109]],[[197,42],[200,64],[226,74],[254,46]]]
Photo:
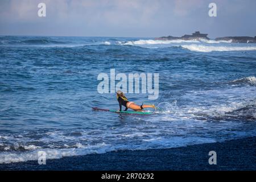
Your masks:
[[[212,2],[217,17],[208,15]],[[256,36],[255,7],[255,0],[0,0],[0,35]]]

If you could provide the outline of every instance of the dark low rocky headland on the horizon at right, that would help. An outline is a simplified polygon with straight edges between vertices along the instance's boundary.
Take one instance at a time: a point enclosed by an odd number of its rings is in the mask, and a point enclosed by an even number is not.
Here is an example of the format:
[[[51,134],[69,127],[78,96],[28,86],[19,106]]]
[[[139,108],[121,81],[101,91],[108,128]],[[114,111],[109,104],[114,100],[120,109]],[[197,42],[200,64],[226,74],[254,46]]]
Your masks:
[[[207,36],[208,34],[201,34],[200,31],[196,31],[192,35],[177,36],[162,36],[160,38],[155,38],[155,40],[210,40]],[[213,39],[216,41],[230,41],[232,43],[256,43],[256,36],[225,36],[222,38]]]

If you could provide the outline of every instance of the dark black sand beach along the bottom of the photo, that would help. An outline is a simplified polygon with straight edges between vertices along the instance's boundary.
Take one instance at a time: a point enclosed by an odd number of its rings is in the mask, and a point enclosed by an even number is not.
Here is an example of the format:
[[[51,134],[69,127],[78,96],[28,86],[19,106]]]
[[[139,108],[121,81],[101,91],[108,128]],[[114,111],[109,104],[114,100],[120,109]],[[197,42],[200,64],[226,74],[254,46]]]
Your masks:
[[[208,163],[209,151],[217,164]],[[0,170],[256,170],[256,137],[222,143],[146,151],[118,151],[47,160],[0,164]]]

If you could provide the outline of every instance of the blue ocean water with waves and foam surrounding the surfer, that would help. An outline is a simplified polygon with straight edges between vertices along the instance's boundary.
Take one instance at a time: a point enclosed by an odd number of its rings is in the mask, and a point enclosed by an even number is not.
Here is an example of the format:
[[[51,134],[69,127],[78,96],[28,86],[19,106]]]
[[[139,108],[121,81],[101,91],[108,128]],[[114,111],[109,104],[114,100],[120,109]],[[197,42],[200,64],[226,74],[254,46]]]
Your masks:
[[[115,114],[100,73],[159,73],[152,115]],[[256,44],[0,37],[0,163],[172,148],[256,136]]]

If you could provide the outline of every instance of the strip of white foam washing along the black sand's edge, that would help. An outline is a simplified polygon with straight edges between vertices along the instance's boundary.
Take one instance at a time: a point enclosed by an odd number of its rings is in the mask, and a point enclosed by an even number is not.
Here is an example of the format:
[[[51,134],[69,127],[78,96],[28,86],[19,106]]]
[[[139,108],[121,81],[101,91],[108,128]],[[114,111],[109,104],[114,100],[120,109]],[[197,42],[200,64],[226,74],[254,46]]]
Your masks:
[[[105,144],[100,143],[94,146],[84,146],[77,144],[78,146],[83,146],[81,148],[61,148],[61,149],[51,149],[46,148],[42,150],[34,150],[27,152],[2,152],[0,153],[0,164],[2,163],[15,163],[15,162],[26,162],[28,160],[38,160],[38,152],[46,152],[46,159],[60,159],[65,156],[78,156],[78,155],[88,155],[88,154],[104,154],[110,151],[117,150],[147,150],[151,148],[174,148],[187,146],[190,144],[201,144],[201,143],[212,143],[216,142],[214,139],[201,138],[201,137],[172,137],[172,138],[152,138],[144,139],[144,144]]]

